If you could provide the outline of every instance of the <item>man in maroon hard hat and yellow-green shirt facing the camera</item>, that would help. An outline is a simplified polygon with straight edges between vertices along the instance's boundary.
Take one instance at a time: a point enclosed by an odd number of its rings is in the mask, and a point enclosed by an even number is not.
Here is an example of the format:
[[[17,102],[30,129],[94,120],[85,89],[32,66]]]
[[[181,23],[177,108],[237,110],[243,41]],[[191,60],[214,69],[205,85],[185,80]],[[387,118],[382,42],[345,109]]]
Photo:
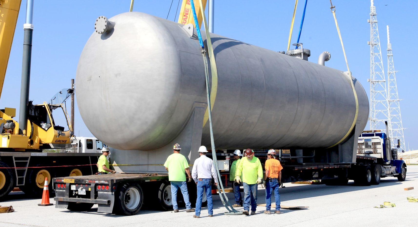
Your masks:
[[[242,214],[248,215],[251,202],[251,214],[255,214],[257,208],[257,184],[261,184],[263,178],[263,168],[260,159],[254,157],[254,151],[247,149],[244,152],[245,157],[241,161],[235,172],[235,181],[241,182],[244,186],[244,211]]]

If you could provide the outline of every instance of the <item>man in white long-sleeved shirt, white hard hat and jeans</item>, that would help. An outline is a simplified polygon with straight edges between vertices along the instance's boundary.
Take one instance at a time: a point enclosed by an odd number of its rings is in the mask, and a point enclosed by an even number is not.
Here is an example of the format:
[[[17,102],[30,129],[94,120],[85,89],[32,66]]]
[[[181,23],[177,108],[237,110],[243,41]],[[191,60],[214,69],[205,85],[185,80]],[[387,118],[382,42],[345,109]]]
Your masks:
[[[213,165],[212,159],[206,157],[205,146],[200,146],[200,157],[194,161],[193,170],[191,176],[197,185],[197,199],[196,199],[196,212],[193,217],[199,218],[202,207],[203,192],[206,192],[206,199],[208,202],[208,214],[209,217],[213,216],[213,203],[212,203],[212,178],[215,181],[215,186],[218,185],[218,176]]]

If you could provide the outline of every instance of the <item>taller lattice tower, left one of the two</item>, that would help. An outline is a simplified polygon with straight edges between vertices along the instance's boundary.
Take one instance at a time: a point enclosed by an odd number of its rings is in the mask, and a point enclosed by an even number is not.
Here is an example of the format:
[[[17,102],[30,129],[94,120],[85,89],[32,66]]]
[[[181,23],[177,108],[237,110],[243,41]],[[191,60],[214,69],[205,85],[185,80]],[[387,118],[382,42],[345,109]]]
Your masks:
[[[385,130],[385,121],[389,120],[385,71],[383,69],[382,51],[380,50],[379,31],[377,30],[376,7],[370,1],[370,130]]]

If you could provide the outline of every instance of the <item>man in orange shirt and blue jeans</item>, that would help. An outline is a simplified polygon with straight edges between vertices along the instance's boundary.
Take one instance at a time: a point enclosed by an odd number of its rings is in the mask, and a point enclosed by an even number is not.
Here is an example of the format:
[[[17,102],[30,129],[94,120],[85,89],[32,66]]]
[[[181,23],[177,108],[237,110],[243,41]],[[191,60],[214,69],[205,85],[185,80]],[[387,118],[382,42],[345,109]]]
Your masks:
[[[265,161],[265,214],[270,214],[271,193],[274,191],[276,200],[276,214],[280,214],[280,194],[279,186],[282,178],[282,165],[276,158],[276,151],[270,149],[267,152],[267,161]]]

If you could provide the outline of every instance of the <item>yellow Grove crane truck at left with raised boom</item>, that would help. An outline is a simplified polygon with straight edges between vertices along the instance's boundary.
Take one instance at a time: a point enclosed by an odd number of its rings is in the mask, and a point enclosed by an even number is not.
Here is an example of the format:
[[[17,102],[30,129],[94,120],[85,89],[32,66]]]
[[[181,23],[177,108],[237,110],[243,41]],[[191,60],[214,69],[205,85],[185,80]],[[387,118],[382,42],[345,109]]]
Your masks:
[[[20,3],[21,0],[0,0],[0,97]],[[43,149],[70,144],[73,130],[63,104],[43,102],[33,105],[29,101],[33,0],[28,0],[26,10],[19,122],[13,119],[15,108],[0,109],[0,200],[16,186],[25,194],[41,196],[45,177],[50,184],[56,176],[92,174],[97,171],[94,164],[101,154],[42,152]],[[69,92],[74,90],[69,89]],[[66,125],[56,125],[56,114],[65,118]],[[97,151],[100,149],[96,148]]]

